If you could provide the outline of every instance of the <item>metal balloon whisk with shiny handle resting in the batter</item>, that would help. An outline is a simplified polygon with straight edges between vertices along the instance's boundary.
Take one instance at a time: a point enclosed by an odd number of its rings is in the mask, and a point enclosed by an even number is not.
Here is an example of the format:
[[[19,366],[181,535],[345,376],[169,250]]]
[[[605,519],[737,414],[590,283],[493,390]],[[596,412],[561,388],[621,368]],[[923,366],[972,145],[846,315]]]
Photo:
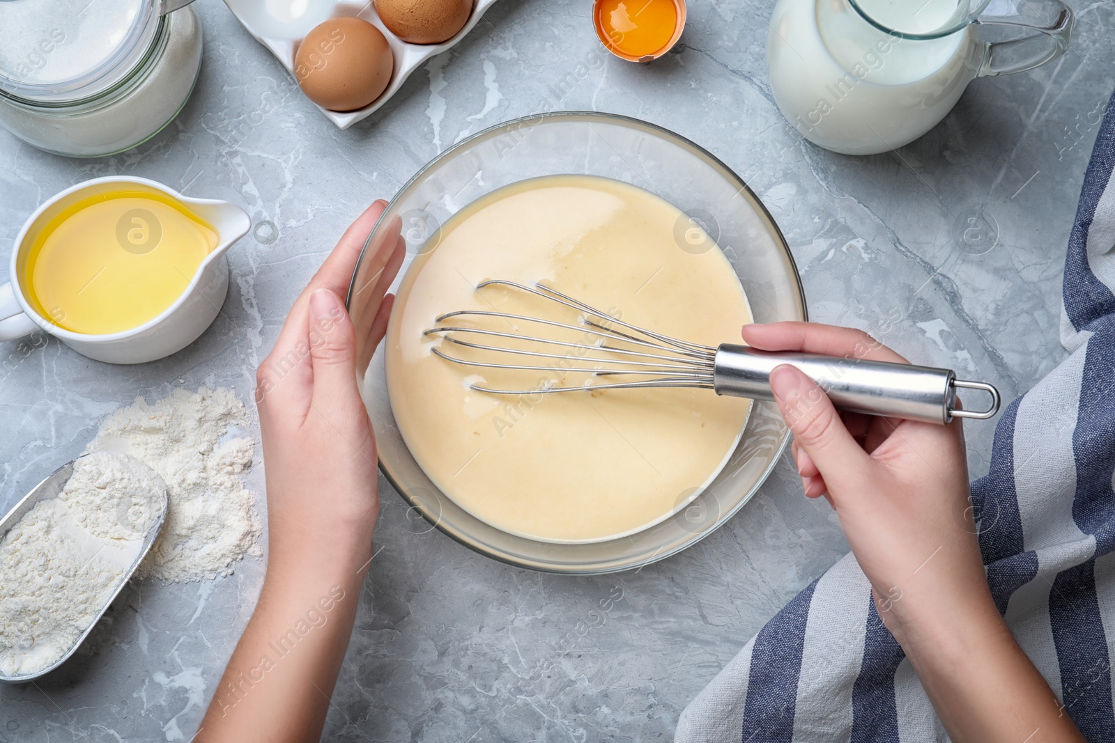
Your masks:
[[[479,284],[505,286],[564,305],[578,313],[576,324],[496,310],[458,310],[435,319],[424,331],[443,342],[469,349],[464,358],[434,346],[435,354],[456,364],[479,369],[544,371],[558,374],[535,389],[495,389],[481,383],[471,388],[493,394],[540,394],[647,388],[702,388],[717,394],[773,400],[770,371],[792,364],[809,375],[837,408],[873,416],[888,416],[933,423],[956,418],[988,419],[999,410],[1000,398],[986,382],[958,380],[949,369],[899,364],[864,359],[842,359],[801,352],[756,351],[746,345],[702,345],[632,325],[543,284],[526,286],[512,281],[491,280]],[[452,321],[506,321],[514,332],[488,326],[469,326]],[[449,324],[446,324],[449,323]],[[584,334],[591,341],[552,338],[518,332],[518,324],[539,331]],[[498,340],[492,340],[498,339]],[[495,345],[493,343],[500,343]],[[444,344],[443,344],[444,345]],[[556,352],[564,349],[564,353]],[[478,354],[475,352],[479,352]],[[512,361],[523,363],[512,363]],[[534,362],[534,363],[531,363]],[[586,374],[579,385],[560,381],[569,374]],[[604,379],[607,381],[600,381]],[[985,410],[958,407],[957,389],[987,392],[991,404]]]

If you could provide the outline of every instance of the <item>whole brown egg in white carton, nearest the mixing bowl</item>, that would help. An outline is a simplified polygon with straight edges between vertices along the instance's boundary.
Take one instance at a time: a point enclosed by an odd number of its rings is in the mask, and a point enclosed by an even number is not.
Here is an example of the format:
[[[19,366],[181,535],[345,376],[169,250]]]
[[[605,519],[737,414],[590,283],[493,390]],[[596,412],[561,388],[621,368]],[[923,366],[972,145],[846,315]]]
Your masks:
[[[379,98],[394,67],[387,38],[362,18],[330,18],[316,26],[294,55],[302,92],[333,111],[363,108]]]

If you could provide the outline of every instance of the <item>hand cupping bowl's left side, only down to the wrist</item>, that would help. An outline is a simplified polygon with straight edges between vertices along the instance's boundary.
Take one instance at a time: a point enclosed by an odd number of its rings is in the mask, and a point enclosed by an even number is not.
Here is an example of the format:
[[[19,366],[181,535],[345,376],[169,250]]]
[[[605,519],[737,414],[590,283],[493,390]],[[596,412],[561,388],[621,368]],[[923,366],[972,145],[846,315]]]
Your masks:
[[[374,321],[359,343],[341,297],[385,206],[376,202],[348,228],[294,302],[256,374],[270,578],[297,573],[308,555],[317,570],[371,548],[379,511],[376,441],[357,389],[357,349],[384,338],[394,299],[386,292],[403,261],[401,245],[384,243],[367,257],[382,271],[365,297],[365,316]]]

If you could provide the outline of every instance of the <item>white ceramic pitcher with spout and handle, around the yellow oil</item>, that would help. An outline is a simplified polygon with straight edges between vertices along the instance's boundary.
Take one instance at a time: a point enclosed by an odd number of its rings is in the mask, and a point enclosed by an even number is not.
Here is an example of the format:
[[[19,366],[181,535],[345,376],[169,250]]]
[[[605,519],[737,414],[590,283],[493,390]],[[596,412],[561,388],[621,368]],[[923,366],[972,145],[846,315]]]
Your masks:
[[[27,272],[27,254],[45,225],[65,211],[106,186],[126,184],[130,192],[148,192],[169,196],[186,205],[191,212],[209,223],[217,234],[217,245],[205,256],[190,286],[153,320],[119,333],[90,335],[59,327],[43,317],[27,300],[22,285]],[[41,330],[62,343],[97,361],[116,364],[135,364],[168,356],[190,345],[216,319],[229,291],[229,263],[225,253],[232,244],[248,234],[251,219],[248,214],[229,202],[209,198],[190,198],[146,178],[113,176],[95,178],[71,186],[36,209],[16,237],[11,252],[9,283],[0,285],[0,341],[13,341]]]

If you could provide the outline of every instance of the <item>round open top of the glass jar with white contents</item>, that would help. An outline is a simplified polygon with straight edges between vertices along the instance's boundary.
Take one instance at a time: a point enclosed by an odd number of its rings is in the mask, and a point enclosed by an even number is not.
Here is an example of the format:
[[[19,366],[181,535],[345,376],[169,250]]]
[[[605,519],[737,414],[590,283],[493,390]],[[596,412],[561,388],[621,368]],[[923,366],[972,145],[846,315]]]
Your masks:
[[[94,95],[155,36],[155,0],[0,0],[0,89],[38,100]]]

